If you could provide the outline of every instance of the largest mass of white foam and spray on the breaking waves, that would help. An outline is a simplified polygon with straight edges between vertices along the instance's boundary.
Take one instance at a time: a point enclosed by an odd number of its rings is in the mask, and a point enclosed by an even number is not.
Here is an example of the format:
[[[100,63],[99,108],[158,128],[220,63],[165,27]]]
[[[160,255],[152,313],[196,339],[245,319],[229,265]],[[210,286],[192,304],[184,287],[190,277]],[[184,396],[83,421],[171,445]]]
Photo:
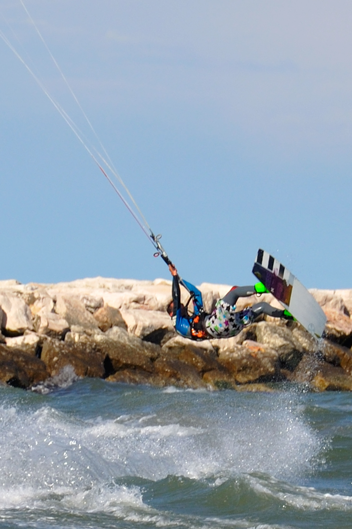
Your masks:
[[[129,517],[130,521],[146,522],[150,517],[156,526],[188,527],[182,518],[176,521],[173,516],[150,510],[138,487],[116,485],[116,479],[159,480],[175,475],[212,478],[214,485],[220,486],[241,472],[297,475],[309,467],[319,450],[318,437],[300,412],[283,405],[280,399],[268,401],[263,411],[263,406],[252,406],[248,400],[234,406],[233,401],[224,404],[216,395],[211,401],[203,394],[193,398],[184,393],[180,398],[183,404],[175,406],[173,400],[170,404],[167,400],[164,406],[151,408],[155,413],[134,409],[130,414],[117,411],[116,418],[91,419],[47,405],[37,409],[3,405],[0,509],[52,507],[106,512]],[[210,402],[206,408],[203,399]],[[267,488],[271,495],[284,500],[282,490],[270,488],[267,482],[254,480],[252,486],[258,494]],[[287,503],[300,501],[297,491],[287,491],[286,495]],[[309,496],[308,503],[313,500],[321,503],[315,496]],[[339,500],[326,497],[325,501],[332,505]],[[197,527],[198,522],[194,522]],[[253,526],[243,523],[243,527]],[[240,527],[238,520],[236,524]],[[208,526],[212,527],[210,519],[209,525],[205,524]]]

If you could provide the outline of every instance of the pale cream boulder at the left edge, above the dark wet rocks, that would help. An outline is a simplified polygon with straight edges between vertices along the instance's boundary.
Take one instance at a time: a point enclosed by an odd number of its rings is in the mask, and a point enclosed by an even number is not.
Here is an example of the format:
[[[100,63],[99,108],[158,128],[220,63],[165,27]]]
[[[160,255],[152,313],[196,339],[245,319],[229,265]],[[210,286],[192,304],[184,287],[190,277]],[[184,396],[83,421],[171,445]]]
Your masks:
[[[1,330],[8,336],[18,336],[24,331],[33,331],[32,314],[23,299],[0,292],[2,308]]]

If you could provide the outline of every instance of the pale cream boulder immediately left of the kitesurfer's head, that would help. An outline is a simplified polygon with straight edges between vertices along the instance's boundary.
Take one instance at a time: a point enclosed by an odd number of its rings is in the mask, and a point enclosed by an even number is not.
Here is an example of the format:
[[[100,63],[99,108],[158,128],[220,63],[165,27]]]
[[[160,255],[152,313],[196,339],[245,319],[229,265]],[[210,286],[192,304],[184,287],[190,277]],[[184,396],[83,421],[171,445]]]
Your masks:
[[[164,335],[174,332],[171,318],[166,312],[121,309],[121,316],[128,332],[145,340],[156,331],[164,330]]]

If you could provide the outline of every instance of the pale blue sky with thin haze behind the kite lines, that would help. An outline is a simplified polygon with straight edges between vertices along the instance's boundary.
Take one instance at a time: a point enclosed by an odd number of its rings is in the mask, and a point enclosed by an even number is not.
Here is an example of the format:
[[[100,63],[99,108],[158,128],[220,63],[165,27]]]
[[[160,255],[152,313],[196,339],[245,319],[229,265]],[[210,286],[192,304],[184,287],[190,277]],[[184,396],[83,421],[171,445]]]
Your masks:
[[[180,275],[250,284],[261,247],[351,287],[350,2],[25,4]],[[0,29],[89,134],[17,0]],[[168,277],[2,41],[0,61],[0,278]]]

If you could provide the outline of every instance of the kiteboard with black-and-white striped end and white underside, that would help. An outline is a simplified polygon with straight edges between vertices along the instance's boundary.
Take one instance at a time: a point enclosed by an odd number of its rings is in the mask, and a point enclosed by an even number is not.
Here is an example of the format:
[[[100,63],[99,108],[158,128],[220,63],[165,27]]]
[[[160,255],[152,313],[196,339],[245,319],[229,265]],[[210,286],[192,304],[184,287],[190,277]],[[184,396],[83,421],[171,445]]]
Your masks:
[[[321,338],[326,324],[324,311],[290,270],[259,249],[252,272],[312,336]]]

